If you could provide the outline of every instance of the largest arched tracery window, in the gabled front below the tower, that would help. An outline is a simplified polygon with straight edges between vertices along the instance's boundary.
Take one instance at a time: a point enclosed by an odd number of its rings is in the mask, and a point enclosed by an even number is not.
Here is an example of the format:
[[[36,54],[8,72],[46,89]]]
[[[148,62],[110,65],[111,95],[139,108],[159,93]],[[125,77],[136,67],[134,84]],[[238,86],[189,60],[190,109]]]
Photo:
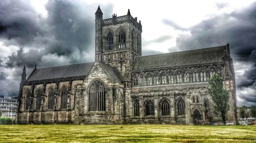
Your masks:
[[[89,111],[104,111],[106,90],[103,83],[95,80],[89,92]]]

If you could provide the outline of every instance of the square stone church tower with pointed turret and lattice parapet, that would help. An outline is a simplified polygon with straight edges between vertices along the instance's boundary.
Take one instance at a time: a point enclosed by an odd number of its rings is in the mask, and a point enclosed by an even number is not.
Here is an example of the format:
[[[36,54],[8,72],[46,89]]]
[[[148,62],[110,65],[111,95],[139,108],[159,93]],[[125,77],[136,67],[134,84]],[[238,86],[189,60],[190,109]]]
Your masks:
[[[98,7],[95,13],[95,61],[115,67],[123,79],[130,79],[131,67],[141,56],[141,22],[126,15],[103,19]]]

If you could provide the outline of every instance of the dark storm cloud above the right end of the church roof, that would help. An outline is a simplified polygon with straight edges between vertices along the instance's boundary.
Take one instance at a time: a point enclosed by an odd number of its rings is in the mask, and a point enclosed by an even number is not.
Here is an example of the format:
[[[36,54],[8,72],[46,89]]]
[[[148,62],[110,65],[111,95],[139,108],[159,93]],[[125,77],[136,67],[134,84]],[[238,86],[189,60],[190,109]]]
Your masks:
[[[221,7],[221,6],[220,6]],[[252,67],[237,77],[238,90],[256,88],[256,3],[230,14],[212,16],[189,28],[191,35],[179,35],[176,47],[181,50],[230,44],[234,62],[247,62]],[[170,24],[170,26],[174,26]],[[179,26],[174,26],[179,29]],[[249,66],[249,64],[248,64]],[[236,68],[236,67],[235,67]],[[254,102],[256,95],[238,95],[245,102]],[[243,93],[243,94],[242,94]]]

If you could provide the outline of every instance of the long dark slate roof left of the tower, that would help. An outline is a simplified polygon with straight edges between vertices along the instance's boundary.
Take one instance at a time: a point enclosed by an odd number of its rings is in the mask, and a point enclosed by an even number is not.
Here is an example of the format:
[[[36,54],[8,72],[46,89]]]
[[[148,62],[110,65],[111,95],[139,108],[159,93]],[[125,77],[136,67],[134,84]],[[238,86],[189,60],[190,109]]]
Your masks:
[[[93,64],[94,62],[35,69],[27,81],[86,76]]]

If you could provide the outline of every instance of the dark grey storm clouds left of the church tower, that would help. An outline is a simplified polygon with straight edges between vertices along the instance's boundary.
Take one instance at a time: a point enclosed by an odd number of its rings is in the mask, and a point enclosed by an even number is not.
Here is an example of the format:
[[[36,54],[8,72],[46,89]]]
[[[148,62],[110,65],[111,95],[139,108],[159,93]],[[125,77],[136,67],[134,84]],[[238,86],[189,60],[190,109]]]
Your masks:
[[[28,0],[0,2],[0,38],[3,45],[18,47],[9,56],[0,56],[0,94],[18,92],[20,74],[37,67],[91,62],[94,56],[94,13],[98,4],[84,1],[48,1],[47,17]],[[111,17],[112,4],[100,6],[103,17]]]

